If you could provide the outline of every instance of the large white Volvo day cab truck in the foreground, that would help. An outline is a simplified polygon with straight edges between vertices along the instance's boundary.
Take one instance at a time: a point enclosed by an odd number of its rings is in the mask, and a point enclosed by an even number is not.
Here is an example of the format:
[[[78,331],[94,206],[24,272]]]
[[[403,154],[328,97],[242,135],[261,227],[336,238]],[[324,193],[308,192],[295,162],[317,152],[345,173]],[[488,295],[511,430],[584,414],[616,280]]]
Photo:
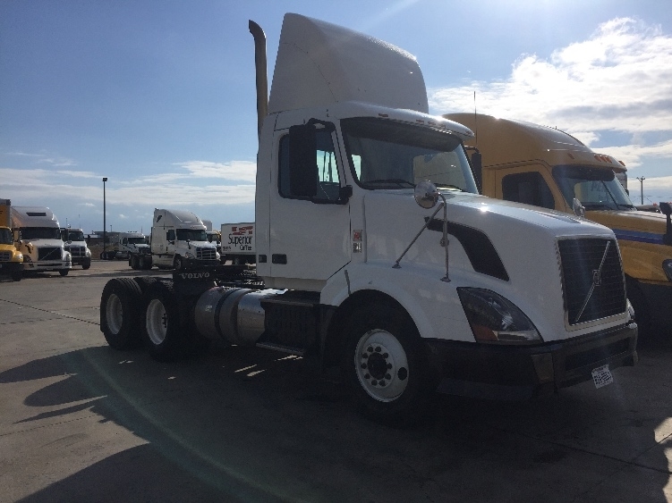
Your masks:
[[[473,133],[428,113],[412,54],[286,14],[268,99],[250,29],[257,276],[109,281],[112,347],[140,337],[163,360],[225,340],[340,365],[362,413],[393,424],[435,390],[530,398],[635,364],[614,233],[479,195]]]

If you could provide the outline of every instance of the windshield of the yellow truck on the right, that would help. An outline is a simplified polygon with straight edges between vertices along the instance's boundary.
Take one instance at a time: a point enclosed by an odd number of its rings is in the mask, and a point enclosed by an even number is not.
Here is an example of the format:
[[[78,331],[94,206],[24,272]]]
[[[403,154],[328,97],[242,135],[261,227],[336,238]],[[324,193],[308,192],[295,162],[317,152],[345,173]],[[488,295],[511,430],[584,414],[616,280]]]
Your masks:
[[[625,189],[611,170],[587,166],[556,166],[553,178],[562,190],[567,205],[574,197],[586,210],[634,210]]]

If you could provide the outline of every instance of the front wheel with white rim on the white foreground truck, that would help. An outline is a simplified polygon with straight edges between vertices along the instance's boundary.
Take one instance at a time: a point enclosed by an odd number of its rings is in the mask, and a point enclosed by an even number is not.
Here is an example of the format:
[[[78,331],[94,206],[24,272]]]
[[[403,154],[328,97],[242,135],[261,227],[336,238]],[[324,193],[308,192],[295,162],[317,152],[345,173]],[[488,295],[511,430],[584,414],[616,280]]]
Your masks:
[[[420,423],[436,386],[413,321],[390,306],[359,310],[353,318],[343,368],[359,410],[390,426]]]

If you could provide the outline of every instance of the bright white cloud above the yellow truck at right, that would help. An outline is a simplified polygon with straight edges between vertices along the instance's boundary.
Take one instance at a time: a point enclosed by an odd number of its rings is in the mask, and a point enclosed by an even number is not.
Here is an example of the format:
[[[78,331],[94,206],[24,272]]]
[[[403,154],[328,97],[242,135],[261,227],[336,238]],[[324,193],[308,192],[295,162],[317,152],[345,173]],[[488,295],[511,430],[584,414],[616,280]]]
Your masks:
[[[672,156],[671,82],[672,37],[659,26],[618,18],[548,59],[522,54],[506,80],[430,89],[430,107],[471,112],[476,91],[480,113],[557,127],[587,145],[608,132],[626,133],[629,145],[600,151],[634,167],[642,157]],[[671,139],[647,145],[653,132]]]

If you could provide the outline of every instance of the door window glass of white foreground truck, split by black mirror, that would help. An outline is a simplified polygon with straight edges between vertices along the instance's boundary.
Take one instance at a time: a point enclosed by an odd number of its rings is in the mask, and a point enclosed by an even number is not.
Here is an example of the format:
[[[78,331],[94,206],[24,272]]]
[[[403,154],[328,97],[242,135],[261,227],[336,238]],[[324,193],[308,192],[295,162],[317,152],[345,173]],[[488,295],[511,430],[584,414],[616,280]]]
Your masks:
[[[331,133],[327,130],[317,131],[317,147],[315,151],[315,171],[314,176],[318,182],[317,194],[312,200],[318,201],[337,201],[338,191],[340,189],[340,175],[338,174],[338,164],[336,163],[336,152]],[[296,194],[290,189],[290,173],[292,166],[289,163],[289,135],[285,135],[280,140],[280,155],[278,166],[278,190],[280,196],[287,198],[297,198]],[[301,197],[304,198],[304,197]]]

